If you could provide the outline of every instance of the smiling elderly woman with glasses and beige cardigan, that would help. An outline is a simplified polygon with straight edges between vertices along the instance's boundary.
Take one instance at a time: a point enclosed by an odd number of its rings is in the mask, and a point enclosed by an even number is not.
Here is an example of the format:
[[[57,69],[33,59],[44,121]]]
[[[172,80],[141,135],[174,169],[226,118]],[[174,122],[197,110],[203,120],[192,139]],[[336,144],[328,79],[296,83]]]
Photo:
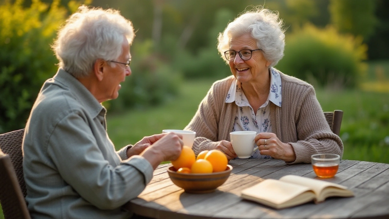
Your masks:
[[[251,158],[310,162],[317,153],[343,154],[312,85],[275,66],[284,55],[285,35],[278,13],[256,8],[241,14],[218,36],[218,50],[232,76],[216,81],[185,127],[196,131],[196,154],[218,149],[237,157],[229,133],[256,131]]]

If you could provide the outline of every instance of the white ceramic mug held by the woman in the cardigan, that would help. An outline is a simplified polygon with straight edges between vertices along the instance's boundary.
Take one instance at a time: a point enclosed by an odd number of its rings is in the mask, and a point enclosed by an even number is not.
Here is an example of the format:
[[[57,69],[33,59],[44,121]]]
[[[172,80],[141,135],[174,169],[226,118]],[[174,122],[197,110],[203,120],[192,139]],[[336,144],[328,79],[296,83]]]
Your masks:
[[[230,132],[232,148],[239,158],[249,158],[258,149],[254,142],[256,135],[255,131]]]

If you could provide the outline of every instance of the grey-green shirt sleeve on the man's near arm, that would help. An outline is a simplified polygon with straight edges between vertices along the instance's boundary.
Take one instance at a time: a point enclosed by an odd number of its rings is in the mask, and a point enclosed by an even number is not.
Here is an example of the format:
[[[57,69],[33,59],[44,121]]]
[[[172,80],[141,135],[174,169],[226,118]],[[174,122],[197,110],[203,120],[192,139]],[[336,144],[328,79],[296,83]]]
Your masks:
[[[107,150],[114,150],[109,146]],[[82,198],[100,209],[114,209],[143,191],[152,178],[153,168],[141,156],[111,165],[103,149],[98,147],[82,113],[69,113],[53,129],[47,154],[64,183]]]

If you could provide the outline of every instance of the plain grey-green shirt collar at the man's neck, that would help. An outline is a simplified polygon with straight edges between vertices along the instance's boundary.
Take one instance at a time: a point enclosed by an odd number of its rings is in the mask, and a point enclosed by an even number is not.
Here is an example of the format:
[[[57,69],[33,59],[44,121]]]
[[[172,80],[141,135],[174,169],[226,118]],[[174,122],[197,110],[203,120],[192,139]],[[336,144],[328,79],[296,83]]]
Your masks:
[[[58,69],[53,77],[54,81],[58,81],[68,88],[74,94],[74,97],[82,104],[85,109],[96,117],[102,111],[106,113],[105,107],[97,101],[96,97],[79,81],[77,78],[69,74],[63,69]]]

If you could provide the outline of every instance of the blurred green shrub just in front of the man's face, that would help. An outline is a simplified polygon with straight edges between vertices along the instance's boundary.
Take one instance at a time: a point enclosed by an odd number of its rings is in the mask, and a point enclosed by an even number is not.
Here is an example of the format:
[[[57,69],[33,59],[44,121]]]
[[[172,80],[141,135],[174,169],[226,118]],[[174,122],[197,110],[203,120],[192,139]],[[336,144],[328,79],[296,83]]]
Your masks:
[[[162,104],[179,93],[181,73],[165,64],[163,57],[152,53],[152,41],[137,41],[131,46],[131,76],[122,83],[119,97],[105,102],[112,111]]]

